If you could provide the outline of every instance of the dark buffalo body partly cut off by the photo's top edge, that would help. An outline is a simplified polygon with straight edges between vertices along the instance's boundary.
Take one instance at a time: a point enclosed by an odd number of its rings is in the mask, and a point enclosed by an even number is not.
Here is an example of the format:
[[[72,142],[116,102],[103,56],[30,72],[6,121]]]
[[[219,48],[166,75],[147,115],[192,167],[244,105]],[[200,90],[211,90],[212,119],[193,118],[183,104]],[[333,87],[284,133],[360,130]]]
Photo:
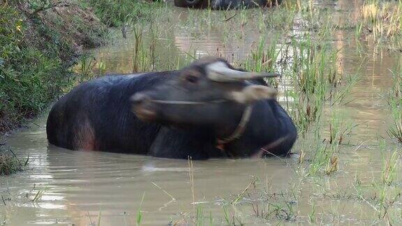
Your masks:
[[[282,0],[174,0],[174,6],[184,8],[234,9],[275,6]]]

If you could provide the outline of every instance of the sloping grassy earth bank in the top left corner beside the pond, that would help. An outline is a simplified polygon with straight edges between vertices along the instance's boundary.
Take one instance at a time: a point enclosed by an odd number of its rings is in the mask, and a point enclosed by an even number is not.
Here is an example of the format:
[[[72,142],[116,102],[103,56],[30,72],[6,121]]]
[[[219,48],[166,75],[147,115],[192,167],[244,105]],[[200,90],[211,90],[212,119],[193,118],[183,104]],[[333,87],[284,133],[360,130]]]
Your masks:
[[[101,45],[107,29],[74,2],[6,1],[0,15],[0,132],[6,132],[62,93],[75,57]]]

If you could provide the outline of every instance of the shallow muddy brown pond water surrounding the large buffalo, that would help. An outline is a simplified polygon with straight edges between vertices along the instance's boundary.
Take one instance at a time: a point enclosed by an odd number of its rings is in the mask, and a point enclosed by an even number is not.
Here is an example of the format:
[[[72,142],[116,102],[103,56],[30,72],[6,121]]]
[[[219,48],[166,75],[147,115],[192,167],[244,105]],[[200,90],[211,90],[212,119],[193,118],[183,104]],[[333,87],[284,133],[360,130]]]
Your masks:
[[[334,12],[332,20],[343,23],[345,18],[358,20],[361,6],[361,1],[340,0],[317,7],[329,8]],[[184,66],[191,59],[189,55],[211,54],[231,62],[245,61],[262,36],[267,37],[267,45],[276,37],[274,29],[259,32],[258,17],[248,19],[244,26],[235,24],[249,16],[240,11],[200,13],[171,6],[165,10],[169,11],[162,20],[165,24],[154,31],[146,27],[144,32],[144,48],[154,48],[158,54],[144,66],[150,70]],[[271,10],[251,12],[258,15]],[[215,21],[193,18],[199,15]],[[225,23],[232,29],[223,30]],[[94,50],[103,73],[132,73],[135,67],[141,70],[142,66],[134,62],[134,32],[129,31],[127,39],[119,32],[114,43]],[[287,35],[303,32],[295,25]],[[0,225],[135,225],[139,215],[143,225],[191,225],[191,216],[195,215],[204,216],[205,225],[210,221],[227,225],[225,216],[234,225],[308,224],[313,218],[322,224],[385,223],[377,217],[381,207],[373,204],[378,195],[375,186],[367,192],[357,185],[371,186],[371,181],[380,180],[384,159],[394,149],[401,149],[387,135],[391,121],[387,95],[393,85],[389,70],[401,53],[380,48],[371,38],[354,36],[355,29],[338,29],[327,40],[338,50],[339,73],[354,74],[359,68],[359,80],[348,92],[347,101],[334,106],[327,103],[322,116],[322,124],[327,125],[332,112],[342,112],[341,120],[352,127],[347,141],[341,144],[334,174],[306,176],[297,158],[214,159],[193,161],[189,167],[186,160],[60,149],[47,144],[47,114],[43,114],[29,128],[6,137],[18,156],[29,154],[31,163],[25,172],[0,177],[5,204],[0,200]],[[280,40],[284,43],[287,38]],[[283,105],[287,89],[292,87],[281,81],[279,100]],[[327,126],[319,133],[328,140]],[[305,144],[313,139],[312,134],[310,131],[299,137],[293,152],[311,151]],[[395,181],[389,193],[399,192],[399,177]],[[372,195],[359,195],[362,193]],[[399,199],[393,206],[400,217]]]

